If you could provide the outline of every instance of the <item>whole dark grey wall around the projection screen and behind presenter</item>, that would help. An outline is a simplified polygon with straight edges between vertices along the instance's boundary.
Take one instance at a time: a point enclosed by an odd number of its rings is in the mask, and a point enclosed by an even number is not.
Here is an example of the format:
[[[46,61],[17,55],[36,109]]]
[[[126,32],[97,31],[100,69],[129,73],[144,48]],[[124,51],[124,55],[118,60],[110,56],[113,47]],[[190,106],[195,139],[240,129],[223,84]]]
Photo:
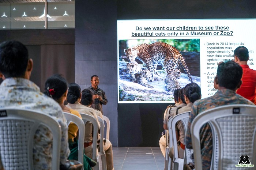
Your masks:
[[[117,104],[117,19],[256,18],[255,7],[254,0],[76,1],[76,82],[87,87],[90,75],[99,75],[109,99],[103,110],[113,146],[117,140],[118,146],[158,146],[159,119],[168,105]]]

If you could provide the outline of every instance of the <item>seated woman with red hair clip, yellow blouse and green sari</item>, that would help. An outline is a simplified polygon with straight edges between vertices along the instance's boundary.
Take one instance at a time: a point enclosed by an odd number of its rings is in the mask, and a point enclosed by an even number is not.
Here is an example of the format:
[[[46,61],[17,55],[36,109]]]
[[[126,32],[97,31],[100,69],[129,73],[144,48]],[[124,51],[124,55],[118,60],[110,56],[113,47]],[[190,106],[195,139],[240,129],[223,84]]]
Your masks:
[[[60,107],[64,112],[74,114],[82,119],[78,111],[68,108],[64,105],[64,101],[66,100],[66,97],[67,97],[67,92],[68,92],[67,90],[72,91],[72,86],[69,86],[69,89],[68,89],[67,80],[59,74],[50,76],[45,82],[44,94],[48,95],[49,97],[53,98],[57,103],[59,103]],[[79,94],[81,94],[81,90]],[[69,160],[71,159],[78,160],[78,141],[76,139],[77,134],[78,134],[78,127],[76,126],[75,123],[70,123],[68,126],[68,144],[69,144],[69,149],[71,151],[68,157]],[[96,165],[96,162],[94,162],[93,160],[88,158],[86,155],[84,155],[84,159],[83,159],[84,170],[91,170],[90,165],[94,166]]]

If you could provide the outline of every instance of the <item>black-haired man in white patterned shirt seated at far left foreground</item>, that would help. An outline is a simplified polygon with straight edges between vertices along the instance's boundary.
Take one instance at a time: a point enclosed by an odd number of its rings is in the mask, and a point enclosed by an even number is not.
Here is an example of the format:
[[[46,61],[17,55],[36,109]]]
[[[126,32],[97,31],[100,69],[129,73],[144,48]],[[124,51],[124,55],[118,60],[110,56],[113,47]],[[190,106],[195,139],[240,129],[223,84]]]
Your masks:
[[[41,111],[56,118],[61,126],[60,163],[65,163],[70,153],[68,149],[68,127],[61,107],[53,99],[40,92],[31,82],[33,60],[28,58],[27,48],[18,41],[0,44],[0,108],[12,107]],[[51,169],[52,133],[45,126],[39,126],[34,137],[34,169]]]

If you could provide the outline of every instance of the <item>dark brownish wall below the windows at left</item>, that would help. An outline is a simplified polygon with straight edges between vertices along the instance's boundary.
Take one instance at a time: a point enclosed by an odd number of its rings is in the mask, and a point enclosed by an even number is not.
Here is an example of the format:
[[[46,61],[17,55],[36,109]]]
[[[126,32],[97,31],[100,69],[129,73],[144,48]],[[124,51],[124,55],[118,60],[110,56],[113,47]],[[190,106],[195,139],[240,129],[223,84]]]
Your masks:
[[[68,82],[75,82],[75,29],[0,30],[0,43],[5,40],[26,45],[34,63],[30,80],[41,91],[53,74],[63,74]]]

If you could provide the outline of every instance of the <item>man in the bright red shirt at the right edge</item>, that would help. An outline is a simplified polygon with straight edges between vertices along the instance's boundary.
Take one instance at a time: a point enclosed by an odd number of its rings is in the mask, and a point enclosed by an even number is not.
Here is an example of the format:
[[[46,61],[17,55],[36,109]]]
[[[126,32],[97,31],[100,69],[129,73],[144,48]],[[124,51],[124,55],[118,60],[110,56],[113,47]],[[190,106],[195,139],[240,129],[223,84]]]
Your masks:
[[[256,70],[252,70],[247,65],[249,51],[244,46],[237,47],[234,51],[234,57],[234,61],[240,64],[243,69],[242,85],[237,90],[237,94],[256,104]]]

